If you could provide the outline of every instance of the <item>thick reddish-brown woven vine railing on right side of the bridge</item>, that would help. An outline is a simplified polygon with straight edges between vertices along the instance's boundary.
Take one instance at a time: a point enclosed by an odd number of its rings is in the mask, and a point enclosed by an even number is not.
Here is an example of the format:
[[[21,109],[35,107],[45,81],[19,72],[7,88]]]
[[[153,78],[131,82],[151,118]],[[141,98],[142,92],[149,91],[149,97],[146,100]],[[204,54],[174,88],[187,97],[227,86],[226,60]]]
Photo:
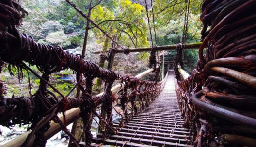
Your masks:
[[[176,92],[191,144],[256,146],[255,8],[256,0],[203,1],[200,60],[185,80],[177,47]]]

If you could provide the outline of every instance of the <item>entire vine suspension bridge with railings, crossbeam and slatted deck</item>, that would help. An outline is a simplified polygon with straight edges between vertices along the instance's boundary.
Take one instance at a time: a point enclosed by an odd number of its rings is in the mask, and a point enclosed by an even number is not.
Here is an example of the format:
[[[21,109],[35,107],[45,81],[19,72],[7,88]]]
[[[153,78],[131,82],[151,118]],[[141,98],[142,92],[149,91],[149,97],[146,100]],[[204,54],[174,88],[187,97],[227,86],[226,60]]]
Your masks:
[[[40,79],[33,95],[12,98],[4,96],[6,84],[0,80],[0,125],[31,124],[28,132],[2,146],[44,147],[63,130],[74,147],[256,147],[255,7],[256,0],[204,0],[202,43],[117,49],[117,37],[105,34],[113,43],[107,52],[108,69],[103,69],[83,55],[21,34],[18,28],[27,12],[16,0],[0,1],[0,71],[8,64],[11,74],[16,68],[19,77],[27,70]],[[189,75],[182,70],[183,50],[196,48],[199,60]],[[166,62],[173,63],[173,70],[164,66],[164,59],[157,60],[157,51],[164,50],[177,52],[173,62]],[[149,70],[137,76],[111,70],[115,55],[137,51],[150,51]],[[106,58],[106,52],[95,53]],[[49,81],[52,73],[68,68],[77,74],[72,89],[78,89],[77,97],[69,96],[72,91],[64,96]],[[161,81],[160,72],[166,75]],[[142,80],[149,73],[152,80]],[[104,91],[93,96],[95,78],[104,81]],[[118,122],[113,113],[120,116]],[[66,126],[79,118],[82,133],[75,136],[76,129],[70,132]],[[99,125],[96,136],[91,133],[93,120]]]

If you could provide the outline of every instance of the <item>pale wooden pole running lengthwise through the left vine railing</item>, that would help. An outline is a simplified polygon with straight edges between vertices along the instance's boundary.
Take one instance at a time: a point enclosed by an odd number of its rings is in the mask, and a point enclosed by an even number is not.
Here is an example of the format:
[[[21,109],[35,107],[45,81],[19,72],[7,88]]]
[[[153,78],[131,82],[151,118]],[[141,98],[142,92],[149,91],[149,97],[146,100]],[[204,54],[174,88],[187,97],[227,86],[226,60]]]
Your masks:
[[[153,71],[154,71],[154,69],[151,68],[151,69],[149,69],[149,70],[147,70],[147,71],[145,71],[143,73],[139,73],[138,75],[136,75],[136,77],[141,79],[141,78],[145,77],[146,75],[148,75],[149,73],[151,73]],[[112,93],[117,92],[119,88],[120,88],[120,84],[114,86],[111,89]],[[102,95],[103,95],[103,93],[100,93],[97,96],[102,96]],[[80,109],[79,108],[73,108],[73,109],[70,109],[70,110],[66,111],[66,125],[69,125],[70,123],[73,123],[74,121],[79,119],[80,118],[79,113],[80,113]],[[59,114],[58,116],[63,121],[63,115]],[[58,123],[54,123],[53,121],[51,121],[50,128],[45,133],[45,138],[48,140],[53,135],[55,135],[56,133],[58,133],[61,130],[62,130],[62,127]],[[30,133],[29,131],[25,132],[25,133],[21,134],[20,136],[14,138],[13,140],[10,140],[7,143],[1,145],[1,147],[20,147],[23,144],[23,142],[26,140],[26,138],[27,138],[29,133]],[[28,146],[31,146],[33,141],[34,141],[34,138],[32,138],[30,140],[30,143],[29,143]]]

